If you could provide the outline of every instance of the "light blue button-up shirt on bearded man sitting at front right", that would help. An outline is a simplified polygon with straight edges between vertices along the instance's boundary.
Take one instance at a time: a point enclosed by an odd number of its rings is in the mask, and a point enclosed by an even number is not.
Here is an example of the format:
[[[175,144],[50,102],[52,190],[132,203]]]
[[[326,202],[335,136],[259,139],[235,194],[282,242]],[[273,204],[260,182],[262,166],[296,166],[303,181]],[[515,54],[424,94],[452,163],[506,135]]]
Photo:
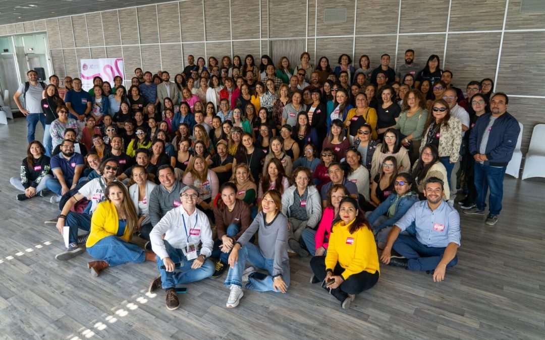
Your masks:
[[[404,231],[413,222],[416,224],[416,239],[423,245],[445,248],[454,242],[460,246],[460,215],[449,203],[441,201],[439,207],[432,211],[428,201],[416,202],[397,221],[396,226]]]

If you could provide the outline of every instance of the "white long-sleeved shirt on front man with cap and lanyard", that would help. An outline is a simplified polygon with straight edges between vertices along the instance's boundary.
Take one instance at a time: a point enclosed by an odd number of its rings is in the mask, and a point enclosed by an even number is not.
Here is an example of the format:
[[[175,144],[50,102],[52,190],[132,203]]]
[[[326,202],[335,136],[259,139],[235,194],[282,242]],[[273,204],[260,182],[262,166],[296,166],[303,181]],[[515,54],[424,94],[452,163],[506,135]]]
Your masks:
[[[195,245],[199,250],[199,242],[202,242],[201,254],[209,257],[212,254],[212,230],[210,222],[205,213],[195,208],[195,212],[187,214],[183,206],[176,207],[168,211],[165,216],[153,227],[149,233],[149,239],[152,242],[152,249],[161,259],[168,257],[168,252],[163,242],[165,240],[176,249],[183,249],[189,239],[189,243]]]

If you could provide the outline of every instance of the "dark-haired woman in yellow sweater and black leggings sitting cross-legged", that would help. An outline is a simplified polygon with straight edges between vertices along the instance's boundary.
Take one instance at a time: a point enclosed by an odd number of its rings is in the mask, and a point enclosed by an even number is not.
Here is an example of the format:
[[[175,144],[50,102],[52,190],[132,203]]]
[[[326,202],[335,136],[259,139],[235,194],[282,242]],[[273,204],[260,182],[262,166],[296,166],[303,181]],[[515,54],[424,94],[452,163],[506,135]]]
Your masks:
[[[314,272],[311,283],[322,281],[322,286],[341,301],[343,309],[350,307],[355,294],[377,283],[380,275],[377,246],[371,225],[353,197],[341,201],[327,255],[314,256],[310,267]]]

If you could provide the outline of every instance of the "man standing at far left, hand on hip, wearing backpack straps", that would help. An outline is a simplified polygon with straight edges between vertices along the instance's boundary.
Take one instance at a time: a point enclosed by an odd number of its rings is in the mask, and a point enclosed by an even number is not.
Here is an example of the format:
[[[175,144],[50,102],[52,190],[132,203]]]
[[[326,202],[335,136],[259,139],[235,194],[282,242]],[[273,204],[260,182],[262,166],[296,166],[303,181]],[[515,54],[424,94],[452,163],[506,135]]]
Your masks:
[[[27,72],[28,82],[19,85],[19,89],[13,95],[13,100],[19,108],[19,111],[26,117],[27,120],[27,141],[31,143],[34,140],[36,125],[38,121],[45,132],[45,115],[41,110],[41,95],[44,92],[45,84],[38,82],[38,72],[30,70]],[[23,95],[25,108],[21,105],[19,97]],[[44,143],[45,145],[45,143]]]

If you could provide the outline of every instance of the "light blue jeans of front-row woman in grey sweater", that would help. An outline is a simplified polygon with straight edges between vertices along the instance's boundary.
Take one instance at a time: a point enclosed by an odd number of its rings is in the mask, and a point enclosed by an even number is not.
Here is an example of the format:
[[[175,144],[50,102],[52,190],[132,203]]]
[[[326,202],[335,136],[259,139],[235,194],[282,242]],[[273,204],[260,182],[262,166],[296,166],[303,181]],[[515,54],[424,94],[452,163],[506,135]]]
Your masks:
[[[244,269],[246,269],[246,260],[248,260],[253,267],[256,267],[256,269],[264,269],[269,272],[269,275],[262,273],[252,274],[249,278],[250,281],[246,283],[247,289],[257,290],[258,292],[269,292],[270,290],[279,292],[272,288],[272,264],[274,263],[274,259],[264,257],[258,246],[253,243],[247,243],[243,248],[239,249],[238,261],[233,268],[229,268],[227,279],[223,285],[228,288],[231,287],[231,285],[242,287],[242,273]],[[286,286],[289,286],[289,261],[282,263],[282,269],[282,280],[286,282]]]

